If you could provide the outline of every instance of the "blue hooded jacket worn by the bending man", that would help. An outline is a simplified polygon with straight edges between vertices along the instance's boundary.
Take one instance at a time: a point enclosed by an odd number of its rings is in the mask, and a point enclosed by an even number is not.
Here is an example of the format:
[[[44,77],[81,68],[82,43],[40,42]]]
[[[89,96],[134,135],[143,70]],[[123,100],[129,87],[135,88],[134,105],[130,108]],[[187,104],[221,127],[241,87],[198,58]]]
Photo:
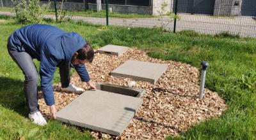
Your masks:
[[[69,65],[74,53],[86,45],[86,41],[76,32],[65,32],[51,25],[32,24],[13,32],[8,44],[11,50],[27,52],[40,61],[41,88],[45,103],[51,106],[55,104],[52,80],[56,67]],[[74,67],[82,81],[90,81],[84,64]]]

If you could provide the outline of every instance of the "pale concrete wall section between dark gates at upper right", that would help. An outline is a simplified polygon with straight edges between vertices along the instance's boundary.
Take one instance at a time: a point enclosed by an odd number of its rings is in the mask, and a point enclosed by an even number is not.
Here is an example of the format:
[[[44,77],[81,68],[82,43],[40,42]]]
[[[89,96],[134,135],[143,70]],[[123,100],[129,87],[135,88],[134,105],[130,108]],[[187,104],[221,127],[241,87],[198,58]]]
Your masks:
[[[235,5],[235,2],[239,2],[239,5]],[[241,15],[242,0],[216,0],[214,6],[213,15]]]

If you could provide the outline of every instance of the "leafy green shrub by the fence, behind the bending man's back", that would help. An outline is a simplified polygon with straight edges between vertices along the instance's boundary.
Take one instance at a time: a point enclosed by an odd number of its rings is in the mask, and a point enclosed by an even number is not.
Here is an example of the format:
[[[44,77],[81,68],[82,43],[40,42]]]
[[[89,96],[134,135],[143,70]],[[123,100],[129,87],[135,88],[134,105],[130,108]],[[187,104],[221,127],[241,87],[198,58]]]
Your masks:
[[[16,19],[20,24],[41,23],[45,12],[49,10],[49,4],[40,6],[39,0],[15,1]]]

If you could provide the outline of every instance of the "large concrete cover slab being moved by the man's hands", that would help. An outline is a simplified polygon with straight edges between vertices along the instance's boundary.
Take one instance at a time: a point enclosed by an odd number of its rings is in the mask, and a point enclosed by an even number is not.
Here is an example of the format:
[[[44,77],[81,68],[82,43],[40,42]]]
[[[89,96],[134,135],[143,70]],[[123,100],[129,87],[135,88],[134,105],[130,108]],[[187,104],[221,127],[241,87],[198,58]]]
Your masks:
[[[57,120],[120,136],[143,99],[102,90],[86,91],[56,114]]]

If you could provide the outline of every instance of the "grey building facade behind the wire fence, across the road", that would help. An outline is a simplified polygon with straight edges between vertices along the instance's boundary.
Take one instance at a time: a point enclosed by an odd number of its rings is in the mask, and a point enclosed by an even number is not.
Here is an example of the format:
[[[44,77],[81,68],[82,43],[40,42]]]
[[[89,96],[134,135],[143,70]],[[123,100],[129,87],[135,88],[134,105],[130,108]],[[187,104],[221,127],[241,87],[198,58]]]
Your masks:
[[[208,1],[209,4],[205,1]],[[212,4],[212,1],[214,1],[214,4]],[[238,6],[235,6],[236,1],[239,2]],[[166,12],[174,11],[175,0],[150,0],[148,3],[150,3],[151,6],[109,4],[109,8],[111,8],[112,11],[118,11],[120,13],[157,15],[161,10],[161,4],[164,2],[168,4],[165,10]],[[3,5],[11,7],[13,6],[13,0],[3,0]],[[105,4],[101,5],[102,10],[105,10]],[[51,8],[54,8],[53,2],[51,2]],[[96,10],[96,4],[89,4],[89,8],[90,10]],[[213,14],[211,13],[212,9]],[[84,4],[64,3],[63,10],[84,10]],[[208,15],[256,16],[256,0],[179,0],[178,12]]]

